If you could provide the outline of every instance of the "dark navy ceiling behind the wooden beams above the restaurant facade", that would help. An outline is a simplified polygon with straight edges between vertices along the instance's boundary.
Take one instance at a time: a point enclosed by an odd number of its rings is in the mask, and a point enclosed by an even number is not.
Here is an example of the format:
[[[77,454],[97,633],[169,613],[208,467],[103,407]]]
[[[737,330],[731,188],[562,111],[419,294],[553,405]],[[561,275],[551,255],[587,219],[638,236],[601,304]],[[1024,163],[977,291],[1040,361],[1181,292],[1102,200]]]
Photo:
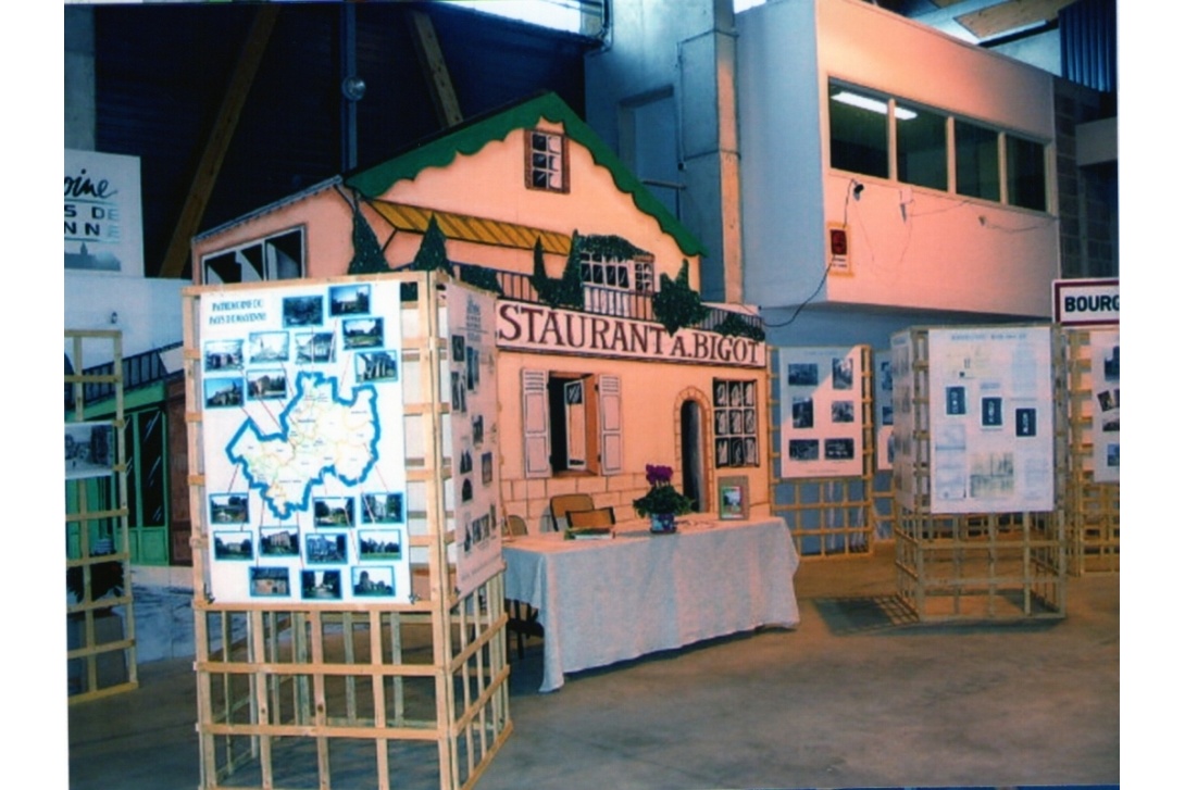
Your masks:
[[[583,56],[595,39],[438,4],[348,4],[354,14],[357,165],[391,158],[444,128],[410,14],[427,13],[469,117],[539,90],[583,115]],[[141,160],[145,269],[161,271],[194,172],[256,14],[270,38],[193,232],[342,173],[346,4],[66,6],[94,13],[95,148]],[[187,269],[184,271],[187,276]]]

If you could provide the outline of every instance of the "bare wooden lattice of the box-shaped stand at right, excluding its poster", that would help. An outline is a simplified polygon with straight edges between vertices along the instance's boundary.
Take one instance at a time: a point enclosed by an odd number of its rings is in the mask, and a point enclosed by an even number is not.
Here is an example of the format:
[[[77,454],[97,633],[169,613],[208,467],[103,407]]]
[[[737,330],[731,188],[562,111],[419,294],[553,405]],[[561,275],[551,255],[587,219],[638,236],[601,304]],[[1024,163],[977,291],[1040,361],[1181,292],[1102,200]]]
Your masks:
[[[1056,338],[1056,335],[1055,335]],[[936,514],[931,512],[929,334],[909,330],[910,492],[896,505],[897,597],[920,622],[1008,621],[1065,617],[1066,534],[1059,507],[1064,452],[1055,450],[1058,506],[1051,512]],[[1056,370],[1055,391],[1064,383]],[[1055,403],[1057,402],[1055,397]],[[1055,410],[1055,448],[1064,445],[1064,415]],[[895,476],[901,473],[895,471]]]

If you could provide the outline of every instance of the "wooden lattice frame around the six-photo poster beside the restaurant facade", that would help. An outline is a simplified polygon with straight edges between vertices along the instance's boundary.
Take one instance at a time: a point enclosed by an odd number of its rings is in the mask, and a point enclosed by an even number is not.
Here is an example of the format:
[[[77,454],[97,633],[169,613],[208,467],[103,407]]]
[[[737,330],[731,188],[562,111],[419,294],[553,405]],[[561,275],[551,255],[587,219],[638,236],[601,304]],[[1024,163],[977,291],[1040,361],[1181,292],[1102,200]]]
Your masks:
[[[779,406],[784,386],[779,381],[777,354],[770,355],[770,477],[769,501],[775,515],[790,527],[794,547],[802,559],[871,557],[877,512],[873,506],[875,442],[872,419],[872,351],[860,347],[863,375],[856,383],[859,393],[858,419],[863,425],[861,474],[847,477],[781,477],[781,436]]]

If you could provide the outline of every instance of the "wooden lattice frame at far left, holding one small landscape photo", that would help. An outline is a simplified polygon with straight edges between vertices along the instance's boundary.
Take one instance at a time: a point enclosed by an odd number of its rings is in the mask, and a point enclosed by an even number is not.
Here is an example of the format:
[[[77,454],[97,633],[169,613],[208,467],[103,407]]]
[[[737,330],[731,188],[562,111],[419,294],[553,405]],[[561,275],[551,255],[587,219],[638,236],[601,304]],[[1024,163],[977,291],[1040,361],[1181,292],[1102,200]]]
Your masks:
[[[115,464],[110,477],[66,481],[66,573],[79,574],[83,596],[66,605],[66,628],[75,647],[68,648],[70,704],[118,694],[139,686],[136,672],[135,616],[132,596],[132,553],[128,542],[128,468],[123,436],[123,335],[118,330],[66,329],[75,372],[65,375],[71,405],[66,423],[87,422],[88,385],[100,385],[111,403],[110,422],[115,435]],[[102,351],[95,352],[98,345]],[[88,365],[94,358],[96,365]],[[110,361],[110,372],[85,373]],[[104,404],[104,409],[108,404]],[[97,482],[96,482],[97,481]],[[97,501],[96,486],[114,488],[113,506]],[[91,538],[103,534],[114,553],[95,554]],[[122,579],[122,592],[92,598],[92,582],[102,570],[115,564]],[[122,616],[114,615],[118,609]],[[111,617],[104,617],[111,615]],[[101,627],[102,623],[102,627]],[[108,624],[121,627],[118,634],[105,634]],[[110,638],[114,636],[115,638]],[[77,679],[77,683],[75,680]]]

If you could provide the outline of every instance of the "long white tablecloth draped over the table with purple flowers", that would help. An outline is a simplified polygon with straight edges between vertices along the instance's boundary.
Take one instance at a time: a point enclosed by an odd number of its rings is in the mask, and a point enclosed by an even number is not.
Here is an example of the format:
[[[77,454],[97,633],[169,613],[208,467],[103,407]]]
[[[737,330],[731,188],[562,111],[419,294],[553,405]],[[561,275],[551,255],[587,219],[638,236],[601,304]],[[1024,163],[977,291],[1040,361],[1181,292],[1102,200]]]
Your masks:
[[[780,518],[688,516],[672,535],[629,522],[611,540],[527,535],[502,554],[506,597],[539,610],[542,692],[563,686],[565,672],[799,623],[799,558]]]

